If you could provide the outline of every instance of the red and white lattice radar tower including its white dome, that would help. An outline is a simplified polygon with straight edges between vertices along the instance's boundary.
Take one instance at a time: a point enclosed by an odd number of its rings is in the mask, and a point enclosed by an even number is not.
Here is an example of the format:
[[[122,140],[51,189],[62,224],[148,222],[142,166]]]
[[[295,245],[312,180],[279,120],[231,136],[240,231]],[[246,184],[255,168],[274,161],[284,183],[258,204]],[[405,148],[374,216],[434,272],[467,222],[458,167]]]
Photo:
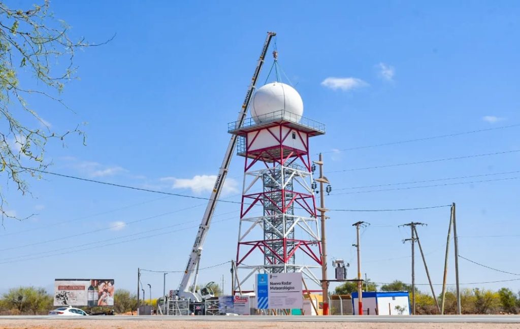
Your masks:
[[[259,88],[250,113],[242,126],[228,127],[245,157],[233,293],[251,292],[243,285],[255,273],[302,272],[320,285],[313,273],[321,267],[321,243],[309,138],[325,127],[302,116],[300,95],[282,83]]]

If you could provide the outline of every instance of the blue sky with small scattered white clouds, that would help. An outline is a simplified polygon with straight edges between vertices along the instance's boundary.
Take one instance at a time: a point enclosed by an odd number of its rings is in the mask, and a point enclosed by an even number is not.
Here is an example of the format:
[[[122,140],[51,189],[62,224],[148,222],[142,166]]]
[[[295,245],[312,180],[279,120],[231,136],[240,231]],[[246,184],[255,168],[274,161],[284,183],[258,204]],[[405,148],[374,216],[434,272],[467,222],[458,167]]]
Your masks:
[[[359,191],[339,191],[349,187],[514,172],[519,170],[519,153],[337,172],[520,150],[519,127],[511,127],[341,151],[520,123],[518,3],[55,1],[52,8],[73,27],[73,36],[95,43],[117,35],[76,57],[81,79],[68,84],[63,94],[75,113],[54,103],[39,104],[42,117],[57,130],[87,123],[87,146],[75,137],[66,147],[50,145],[50,170],[209,196],[207,186],[213,181],[205,176],[217,173],[229,139],[227,123],[236,120],[265,33],[272,30],[278,34],[279,63],[302,95],[304,115],[327,125],[327,134],[314,138],[311,149],[313,154],[326,152],[326,175],[333,188],[328,208],[456,202],[460,254],[520,273],[513,261],[520,237],[503,236],[515,235],[520,228],[517,179],[339,194]],[[267,67],[270,64],[269,59]],[[240,200],[242,171],[243,159],[235,156],[223,196],[227,200]],[[388,188],[396,187],[403,186]],[[381,188],[363,191],[374,189]],[[11,212],[38,215],[4,222],[0,290],[28,284],[50,288],[55,278],[110,277],[116,286],[134,291],[138,267],[184,268],[205,207],[201,200],[53,176],[32,180],[31,190],[32,197],[21,196],[12,186],[6,192]],[[234,257],[238,210],[237,204],[219,204],[202,267]],[[375,282],[409,282],[410,246],[401,242],[409,238],[409,230],[397,226],[420,221],[428,224],[418,231],[432,279],[442,281],[449,208],[329,215],[329,262],[349,261],[349,277],[356,272],[352,223],[363,220],[371,226],[362,235],[362,272]],[[124,238],[130,234],[136,235]],[[143,239],[72,252],[136,238]],[[34,245],[24,246],[28,244]],[[59,251],[71,253],[56,255]],[[453,252],[450,261],[448,281],[453,283]],[[417,282],[425,283],[420,259],[416,273]],[[222,275],[229,292],[227,265],[201,271],[200,280],[219,281]],[[460,260],[462,283],[517,278]],[[161,274],[146,273],[142,281],[152,285],[152,295],[162,293]],[[168,274],[167,289],[179,281],[180,274]],[[518,291],[519,282],[463,287]],[[420,288],[427,291],[426,286]]]

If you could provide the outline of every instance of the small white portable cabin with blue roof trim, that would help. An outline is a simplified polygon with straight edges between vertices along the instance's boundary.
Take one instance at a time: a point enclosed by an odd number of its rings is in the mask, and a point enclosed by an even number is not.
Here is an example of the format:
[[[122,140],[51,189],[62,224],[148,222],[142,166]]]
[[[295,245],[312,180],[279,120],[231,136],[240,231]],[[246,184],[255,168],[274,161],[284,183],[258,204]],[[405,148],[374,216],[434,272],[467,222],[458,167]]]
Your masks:
[[[410,315],[410,298],[407,291],[363,292],[363,315]],[[358,293],[352,293],[354,315],[359,314]]]

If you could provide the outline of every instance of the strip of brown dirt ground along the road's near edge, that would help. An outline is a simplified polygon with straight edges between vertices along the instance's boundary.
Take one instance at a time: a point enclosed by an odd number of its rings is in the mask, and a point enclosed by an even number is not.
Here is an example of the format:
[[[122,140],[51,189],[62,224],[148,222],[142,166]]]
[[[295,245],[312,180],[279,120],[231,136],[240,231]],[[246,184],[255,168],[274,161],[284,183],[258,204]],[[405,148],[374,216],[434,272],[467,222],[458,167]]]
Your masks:
[[[147,320],[0,320],[2,329],[520,329],[520,324],[489,323],[324,323],[324,322],[195,322],[195,321],[147,321]]]

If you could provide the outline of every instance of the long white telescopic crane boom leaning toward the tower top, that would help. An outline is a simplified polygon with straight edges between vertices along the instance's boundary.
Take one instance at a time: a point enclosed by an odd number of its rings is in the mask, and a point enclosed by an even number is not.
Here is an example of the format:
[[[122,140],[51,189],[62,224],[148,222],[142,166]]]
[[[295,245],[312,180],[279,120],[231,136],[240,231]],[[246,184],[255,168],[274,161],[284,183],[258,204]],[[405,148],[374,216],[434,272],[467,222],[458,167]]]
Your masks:
[[[260,71],[262,70],[262,67],[264,65],[264,59],[265,55],[267,54],[267,49],[269,48],[269,43],[271,42],[272,37],[274,37],[275,35],[275,32],[267,32],[264,47],[262,48],[260,58],[258,59],[258,63],[256,64],[256,69],[253,74],[253,78],[251,80],[248,92],[245,94],[242,109],[240,110],[238,115],[237,122],[239,122],[240,126],[242,126],[245,120],[245,116],[247,115],[249,102],[251,101],[253,91],[256,87],[256,81],[258,80],[258,76],[260,75]],[[210,200],[207,203],[206,211],[204,212],[204,217],[202,217],[202,222],[199,226],[199,231],[197,232],[197,236],[195,237],[195,243],[193,243],[193,248],[191,249],[191,253],[188,258],[188,264],[186,265],[183,279],[180,281],[179,288],[176,292],[176,295],[179,298],[190,299],[192,301],[201,301],[202,297],[195,291],[195,285],[197,284],[199,262],[202,254],[202,246],[204,245],[204,240],[206,239],[207,232],[210,229],[211,219],[213,217],[213,213],[215,211],[215,207],[220,196],[220,192],[222,191],[222,188],[224,186],[224,181],[226,180],[229,164],[231,162],[236,144],[237,135],[231,135],[231,139],[229,140],[226,154],[224,155],[224,160],[222,161],[222,166],[220,166],[220,170],[215,181],[215,185],[213,187]]]

